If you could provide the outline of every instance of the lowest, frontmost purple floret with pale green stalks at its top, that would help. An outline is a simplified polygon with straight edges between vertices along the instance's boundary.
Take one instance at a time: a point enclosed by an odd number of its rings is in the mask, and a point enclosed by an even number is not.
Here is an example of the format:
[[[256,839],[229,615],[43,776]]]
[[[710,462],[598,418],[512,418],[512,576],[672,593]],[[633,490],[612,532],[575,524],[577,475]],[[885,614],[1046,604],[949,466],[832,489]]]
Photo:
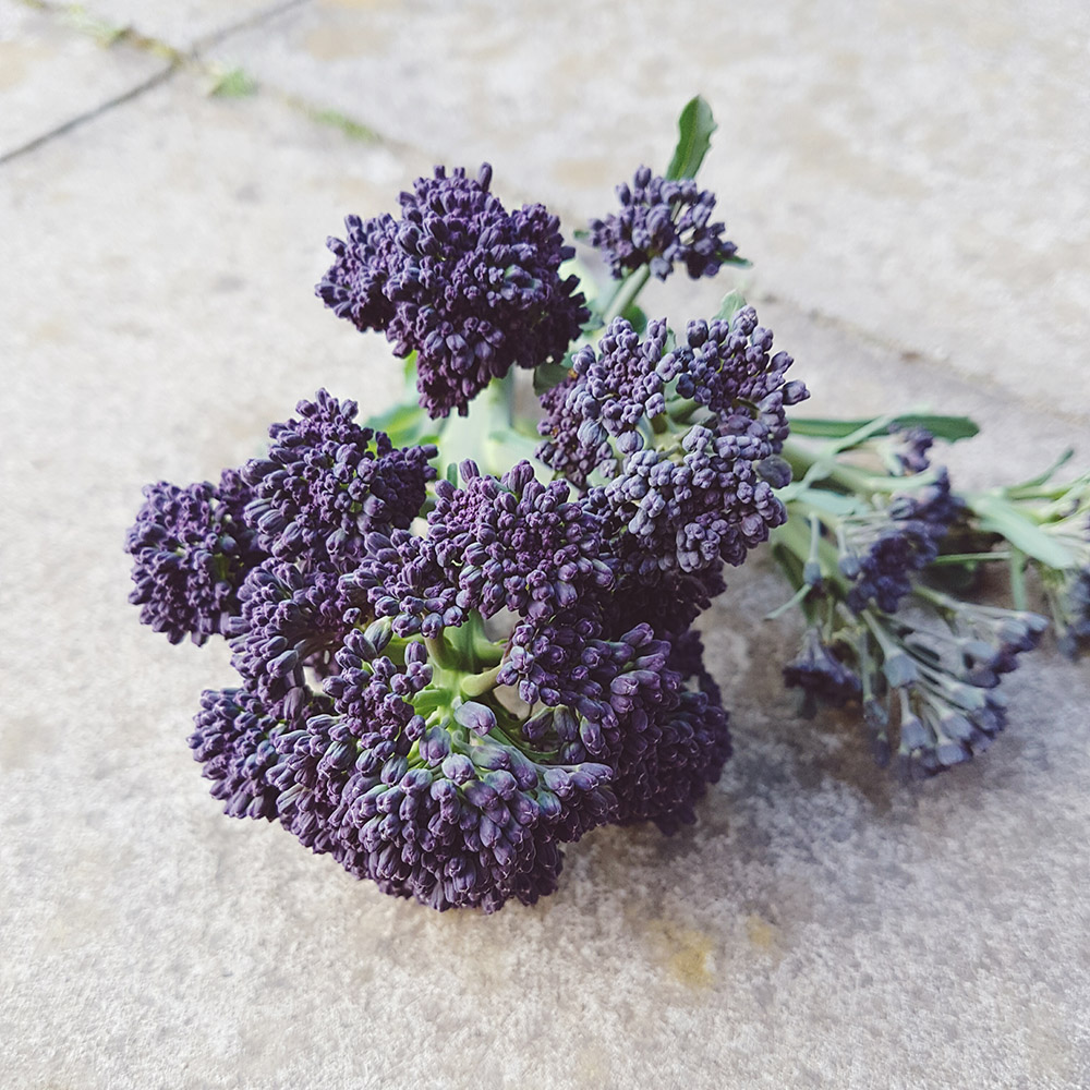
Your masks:
[[[542,753],[555,738],[533,749],[501,706],[433,685],[425,645],[388,621],[348,633],[324,688],[294,723],[245,690],[206,693],[191,746],[229,814],[275,818],[386,893],[533,904],[560,846],[615,812],[609,767]]]

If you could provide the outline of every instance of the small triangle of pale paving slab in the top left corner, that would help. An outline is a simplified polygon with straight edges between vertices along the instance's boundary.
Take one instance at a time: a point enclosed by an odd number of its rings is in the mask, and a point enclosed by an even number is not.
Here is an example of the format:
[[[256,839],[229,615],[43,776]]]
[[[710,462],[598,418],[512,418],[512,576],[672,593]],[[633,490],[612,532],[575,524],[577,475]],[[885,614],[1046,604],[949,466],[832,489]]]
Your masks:
[[[167,68],[107,49],[17,0],[0,0],[0,159],[126,95]]]

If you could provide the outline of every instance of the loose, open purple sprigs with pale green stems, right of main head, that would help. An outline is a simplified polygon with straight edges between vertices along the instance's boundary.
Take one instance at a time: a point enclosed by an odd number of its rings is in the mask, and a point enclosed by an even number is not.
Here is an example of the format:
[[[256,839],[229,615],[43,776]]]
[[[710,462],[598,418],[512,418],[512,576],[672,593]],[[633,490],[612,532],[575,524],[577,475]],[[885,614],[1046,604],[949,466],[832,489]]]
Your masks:
[[[1026,609],[969,604],[933,585],[942,552],[957,559],[957,543],[979,531],[967,523],[970,501],[952,491],[945,469],[929,464],[932,441],[913,428],[850,448],[881,455],[889,476],[868,473],[858,459],[837,462],[838,450],[808,462],[792,447],[800,469],[814,467],[832,483],[824,494],[800,487],[789,499],[798,522],[776,543],[808,618],[785,683],[801,690],[804,714],[858,707],[879,764],[896,756],[911,777],[991,744],[1006,725],[1001,681],[1046,627]],[[810,533],[799,532],[804,520]]]

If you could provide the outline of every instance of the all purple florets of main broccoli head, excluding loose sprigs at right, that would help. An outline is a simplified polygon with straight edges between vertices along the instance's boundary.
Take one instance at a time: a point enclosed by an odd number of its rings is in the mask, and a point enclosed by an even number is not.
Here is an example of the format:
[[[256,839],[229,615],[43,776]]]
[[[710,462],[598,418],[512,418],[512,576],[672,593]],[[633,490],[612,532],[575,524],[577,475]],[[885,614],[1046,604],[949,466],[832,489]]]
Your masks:
[[[436,168],[398,217],[349,217],[316,290],[412,359],[433,419],[512,367],[571,363],[543,398],[544,464],[437,480],[436,446],[320,390],[218,488],[149,488],[129,541],[142,619],[229,641],[238,681],[204,693],[190,738],[225,812],[386,893],[489,912],[552,893],[596,826],[695,820],[730,740],[690,626],[783,522],[786,408],[807,397],[749,307],[681,344],[618,318],[572,361],[574,251],[491,181]],[[738,263],[693,182],[641,169],[621,197],[595,226],[618,276]]]

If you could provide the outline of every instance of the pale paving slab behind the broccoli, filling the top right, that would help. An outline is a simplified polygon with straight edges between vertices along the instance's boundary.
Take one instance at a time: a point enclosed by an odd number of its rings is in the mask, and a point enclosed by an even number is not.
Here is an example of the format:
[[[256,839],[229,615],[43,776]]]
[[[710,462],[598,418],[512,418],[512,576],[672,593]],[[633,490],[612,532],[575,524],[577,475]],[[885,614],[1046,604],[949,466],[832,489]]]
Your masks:
[[[220,53],[589,216],[702,175],[766,287],[1042,402],[1090,392],[1090,9],[988,0],[315,0]]]

